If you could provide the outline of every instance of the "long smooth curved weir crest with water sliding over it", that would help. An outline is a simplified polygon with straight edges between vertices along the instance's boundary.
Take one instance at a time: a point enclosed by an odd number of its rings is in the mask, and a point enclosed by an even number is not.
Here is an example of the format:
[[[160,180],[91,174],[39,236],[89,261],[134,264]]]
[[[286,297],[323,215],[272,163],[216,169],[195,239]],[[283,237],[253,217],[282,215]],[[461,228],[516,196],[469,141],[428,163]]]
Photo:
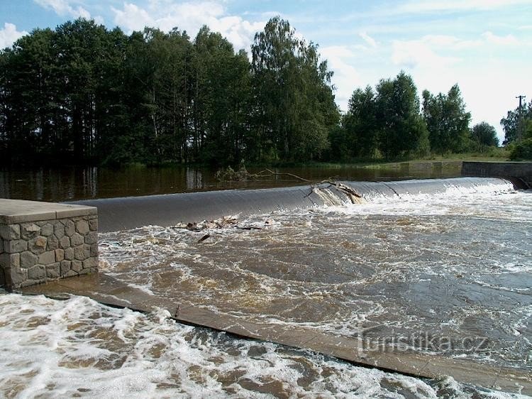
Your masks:
[[[378,197],[437,195],[450,189],[474,192],[487,185],[511,184],[490,177],[461,177],[399,182],[342,182],[362,200]],[[140,226],[172,226],[199,222],[230,214],[247,215],[277,210],[307,209],[332,204],[351,204],[350,197],[337,187],[323,183],[314,187],[282,187],[262,190],[223,190],[145,197],[124,197],[74,202],[98,208],[101,232],[134,229]]]

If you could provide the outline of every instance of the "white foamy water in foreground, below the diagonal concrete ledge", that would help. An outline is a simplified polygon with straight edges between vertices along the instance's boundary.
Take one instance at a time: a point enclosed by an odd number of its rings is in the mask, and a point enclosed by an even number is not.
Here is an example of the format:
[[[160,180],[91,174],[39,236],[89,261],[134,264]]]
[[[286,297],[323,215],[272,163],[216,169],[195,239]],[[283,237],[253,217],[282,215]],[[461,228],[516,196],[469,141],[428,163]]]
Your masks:
[[[143,315],[86,297],[6,293],[0,308],[7,398],[521,398],[229,339],[178,324],[165,310]]]

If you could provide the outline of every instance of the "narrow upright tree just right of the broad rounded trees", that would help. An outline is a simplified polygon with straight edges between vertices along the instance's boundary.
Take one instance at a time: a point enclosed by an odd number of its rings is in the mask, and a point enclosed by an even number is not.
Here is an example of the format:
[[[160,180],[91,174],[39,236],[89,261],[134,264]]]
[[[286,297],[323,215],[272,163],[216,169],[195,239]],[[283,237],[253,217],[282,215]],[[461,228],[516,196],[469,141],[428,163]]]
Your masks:
[[[471,114],[465,111],[458,84],[451,87],[448,94],[437,96],[424,90],[423,118],[432,151],[440,154],[465,151]]]

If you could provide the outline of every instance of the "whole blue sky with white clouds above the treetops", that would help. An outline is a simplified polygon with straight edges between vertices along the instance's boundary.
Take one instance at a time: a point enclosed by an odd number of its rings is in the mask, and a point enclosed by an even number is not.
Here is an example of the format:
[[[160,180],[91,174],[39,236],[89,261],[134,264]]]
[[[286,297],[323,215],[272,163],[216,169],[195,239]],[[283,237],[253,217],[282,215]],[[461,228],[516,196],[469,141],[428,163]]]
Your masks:
[[[249,50],[272,16],[319,45],[345,111],[358,87],[401,70],[437,94],[458,83],[472,125],[499,124],[518,95],[532,99],[532,0],[0,0],[0,48],[34,28],[94,18],[126,33],[201,26]]]

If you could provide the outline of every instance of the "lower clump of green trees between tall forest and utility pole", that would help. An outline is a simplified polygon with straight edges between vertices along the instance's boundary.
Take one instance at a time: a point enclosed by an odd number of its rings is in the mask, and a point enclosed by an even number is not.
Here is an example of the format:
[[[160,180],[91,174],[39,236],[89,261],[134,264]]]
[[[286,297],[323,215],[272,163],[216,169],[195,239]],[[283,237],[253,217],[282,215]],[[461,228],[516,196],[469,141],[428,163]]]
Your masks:
[[[421,107],[421,111],[420,111]],[[340,158],[411,158],[433,154],[484,152],[498,146],[494,127],[470,127],[458,84],[447,94],[423,91],[404,72],[381,80],[372,89],[356,89],[340,128],[331,135],[331,149]]]

